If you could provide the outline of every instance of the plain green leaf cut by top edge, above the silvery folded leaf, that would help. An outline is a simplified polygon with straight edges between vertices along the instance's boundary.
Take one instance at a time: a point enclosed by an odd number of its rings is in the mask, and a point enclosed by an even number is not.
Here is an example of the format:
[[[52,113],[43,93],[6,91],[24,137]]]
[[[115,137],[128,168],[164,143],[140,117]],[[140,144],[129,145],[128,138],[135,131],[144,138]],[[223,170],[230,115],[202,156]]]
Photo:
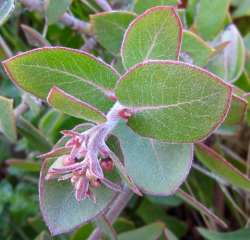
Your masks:
[[[201,0],[199,2],[194,25],[204,41],[215,37],[224,23],[228,7],[229,0]]]

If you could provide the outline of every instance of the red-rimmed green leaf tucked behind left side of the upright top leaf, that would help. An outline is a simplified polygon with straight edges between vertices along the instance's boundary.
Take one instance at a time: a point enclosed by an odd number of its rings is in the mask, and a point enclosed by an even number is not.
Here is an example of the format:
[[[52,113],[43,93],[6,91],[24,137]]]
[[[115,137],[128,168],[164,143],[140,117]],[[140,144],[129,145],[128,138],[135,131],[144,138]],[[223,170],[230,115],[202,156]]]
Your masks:
[[[136,17],[137,15],[134,13],[124,11],[91,15],[92,33],[96,40],[106,49],[114,53],[119,53],[124,33]]]

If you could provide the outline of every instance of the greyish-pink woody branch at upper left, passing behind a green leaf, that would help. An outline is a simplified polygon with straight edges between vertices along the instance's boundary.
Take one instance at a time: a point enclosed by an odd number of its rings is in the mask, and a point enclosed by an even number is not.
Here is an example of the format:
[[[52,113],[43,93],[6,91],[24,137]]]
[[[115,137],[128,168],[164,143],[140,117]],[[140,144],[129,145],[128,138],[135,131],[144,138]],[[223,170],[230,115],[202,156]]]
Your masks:
[[[20,3],[24,4],[30,11],[37,10],[39,12],[44,12],[43,2],[37,0],[18,0]],[[61,23],[72,28],[76,33],[91,34],[91,24],[79,20],[68,13],[64,13],[59,19]]]

